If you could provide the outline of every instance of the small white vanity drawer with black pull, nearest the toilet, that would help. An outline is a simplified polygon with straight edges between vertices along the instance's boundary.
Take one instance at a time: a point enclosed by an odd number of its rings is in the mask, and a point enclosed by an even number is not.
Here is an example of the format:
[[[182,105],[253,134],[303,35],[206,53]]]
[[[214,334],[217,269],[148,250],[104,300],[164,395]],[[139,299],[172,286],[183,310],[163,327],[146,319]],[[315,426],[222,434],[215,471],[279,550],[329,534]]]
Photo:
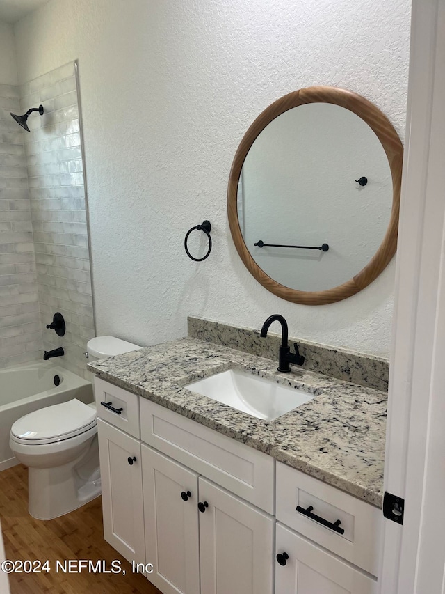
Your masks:
[[[136,394],[95,377],[95,395],[99,419],[140,439],[139,397]]]

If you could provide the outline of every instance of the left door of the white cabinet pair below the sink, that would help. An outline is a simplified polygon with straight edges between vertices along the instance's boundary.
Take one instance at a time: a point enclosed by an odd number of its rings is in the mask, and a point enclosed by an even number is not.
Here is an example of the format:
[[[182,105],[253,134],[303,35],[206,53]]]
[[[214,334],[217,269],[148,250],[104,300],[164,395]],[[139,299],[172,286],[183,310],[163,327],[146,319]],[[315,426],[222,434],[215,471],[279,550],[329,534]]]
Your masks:
[[[145,445],[142,464],[147,577],[164,594],[198,594],[197,474]]]

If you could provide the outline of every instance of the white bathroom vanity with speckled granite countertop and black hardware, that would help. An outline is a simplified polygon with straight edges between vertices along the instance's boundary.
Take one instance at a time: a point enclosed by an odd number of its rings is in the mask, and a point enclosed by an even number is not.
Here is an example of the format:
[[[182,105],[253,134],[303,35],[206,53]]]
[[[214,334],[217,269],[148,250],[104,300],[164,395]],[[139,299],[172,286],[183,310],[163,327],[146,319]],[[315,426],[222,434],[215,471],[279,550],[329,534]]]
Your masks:
[[[385,393],[194,338],[90,369],[105,538],[161,592],[376,592]],[[184,388],[227,369],[313,398],[265,421]]]

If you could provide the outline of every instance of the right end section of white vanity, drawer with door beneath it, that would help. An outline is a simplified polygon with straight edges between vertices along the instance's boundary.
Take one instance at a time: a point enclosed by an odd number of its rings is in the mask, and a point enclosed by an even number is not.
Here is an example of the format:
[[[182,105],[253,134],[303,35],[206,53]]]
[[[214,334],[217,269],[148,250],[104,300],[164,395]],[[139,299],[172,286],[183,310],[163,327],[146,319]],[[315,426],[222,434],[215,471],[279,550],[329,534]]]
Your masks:
[[[276,488],[276,594],[375,593],[380,510],[281,462]]]

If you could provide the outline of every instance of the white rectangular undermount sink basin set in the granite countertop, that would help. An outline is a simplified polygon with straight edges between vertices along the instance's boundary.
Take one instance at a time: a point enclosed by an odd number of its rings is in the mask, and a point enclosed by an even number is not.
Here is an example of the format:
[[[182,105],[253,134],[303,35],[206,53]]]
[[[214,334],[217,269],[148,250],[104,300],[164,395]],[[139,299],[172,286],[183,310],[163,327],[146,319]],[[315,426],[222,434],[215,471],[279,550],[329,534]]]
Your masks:
[[[237,369],[204,377],[184,388],[266,421],[273,421],[315,397]]]

